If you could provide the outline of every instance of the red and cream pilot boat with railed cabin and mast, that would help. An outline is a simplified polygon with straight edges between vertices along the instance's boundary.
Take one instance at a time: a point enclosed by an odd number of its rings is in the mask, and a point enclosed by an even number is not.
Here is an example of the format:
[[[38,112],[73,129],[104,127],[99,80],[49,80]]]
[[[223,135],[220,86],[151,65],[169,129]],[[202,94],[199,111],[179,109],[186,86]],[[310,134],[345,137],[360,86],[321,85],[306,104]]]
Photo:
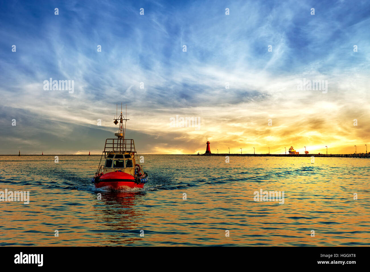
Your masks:
[[[114,134],[117,138],[105,140],[98,170],[91,179],[91,183],[95,185],[95,188],[144,188],[144,184],[148,182],[148,174],[143,171],[139,163],[134,140],[125,139],[126,122],[129,119],[123,117],[122,107],[121,115],[113,120],[115,125],[120,123],[118,133]]]

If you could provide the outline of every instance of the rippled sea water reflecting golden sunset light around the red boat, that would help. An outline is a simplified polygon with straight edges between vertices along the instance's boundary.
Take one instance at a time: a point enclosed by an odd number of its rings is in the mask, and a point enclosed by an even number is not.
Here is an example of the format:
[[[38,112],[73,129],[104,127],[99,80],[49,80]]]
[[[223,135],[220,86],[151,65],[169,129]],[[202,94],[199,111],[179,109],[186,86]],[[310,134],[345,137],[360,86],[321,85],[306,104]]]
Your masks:
[[[230,157],[226,163],[225,157],[144,155],[149,182],[132,192],[94,189],[99,160],[0,156],[0,191],[30,191],[28,205],[0,202],[0,245],[370,243],[369,159],[315,158],[312,164],[309,157]],[[284,191],[284,204],[254,201],[260,189]]]

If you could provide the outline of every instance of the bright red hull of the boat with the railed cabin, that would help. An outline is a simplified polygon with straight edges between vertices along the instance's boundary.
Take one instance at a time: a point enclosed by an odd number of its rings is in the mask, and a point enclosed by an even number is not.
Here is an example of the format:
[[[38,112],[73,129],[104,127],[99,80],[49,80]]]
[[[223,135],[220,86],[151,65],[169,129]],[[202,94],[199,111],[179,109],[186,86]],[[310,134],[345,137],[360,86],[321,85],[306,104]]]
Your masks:
[[[144,188],[144,184],[137,184],[135,178],[125,172],[109,172],[101,175],[97,182],[94,183],[95,188],[110,187],[112,189],[124,188]]]

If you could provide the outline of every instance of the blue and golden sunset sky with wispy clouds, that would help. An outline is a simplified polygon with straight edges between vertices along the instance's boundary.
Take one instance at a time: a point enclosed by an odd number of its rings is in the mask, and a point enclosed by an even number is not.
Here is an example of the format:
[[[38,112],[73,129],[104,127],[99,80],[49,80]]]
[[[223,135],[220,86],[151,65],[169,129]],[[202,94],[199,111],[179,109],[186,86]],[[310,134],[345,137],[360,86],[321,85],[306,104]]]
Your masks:
[[[139,154],[370,144],[369,1],[0,3],[0,154],[101,154],[121,103]]]

